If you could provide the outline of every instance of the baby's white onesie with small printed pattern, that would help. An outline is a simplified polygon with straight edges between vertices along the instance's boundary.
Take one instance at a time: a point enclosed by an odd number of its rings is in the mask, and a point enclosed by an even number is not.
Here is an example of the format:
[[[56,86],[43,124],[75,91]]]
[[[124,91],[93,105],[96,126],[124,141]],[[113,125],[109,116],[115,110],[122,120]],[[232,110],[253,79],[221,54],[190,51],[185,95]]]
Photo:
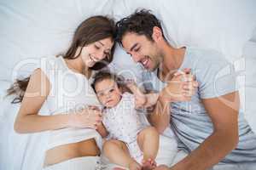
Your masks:
[[[131,143],[145,125],[135,109],[134,95],[125,93],[119,104],[103,111],[103,124],[112,139]]]

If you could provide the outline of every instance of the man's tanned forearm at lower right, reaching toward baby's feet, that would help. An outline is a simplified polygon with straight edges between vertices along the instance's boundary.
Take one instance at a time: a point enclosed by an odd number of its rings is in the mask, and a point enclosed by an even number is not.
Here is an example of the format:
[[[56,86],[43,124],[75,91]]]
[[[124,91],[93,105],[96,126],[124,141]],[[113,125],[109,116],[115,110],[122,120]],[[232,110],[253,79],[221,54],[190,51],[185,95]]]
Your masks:
[[[179,161],[172,170],[205,170],[218,164],[231,150],[236,148],[238,137],[234,133],[212,133],[189,156]]]

